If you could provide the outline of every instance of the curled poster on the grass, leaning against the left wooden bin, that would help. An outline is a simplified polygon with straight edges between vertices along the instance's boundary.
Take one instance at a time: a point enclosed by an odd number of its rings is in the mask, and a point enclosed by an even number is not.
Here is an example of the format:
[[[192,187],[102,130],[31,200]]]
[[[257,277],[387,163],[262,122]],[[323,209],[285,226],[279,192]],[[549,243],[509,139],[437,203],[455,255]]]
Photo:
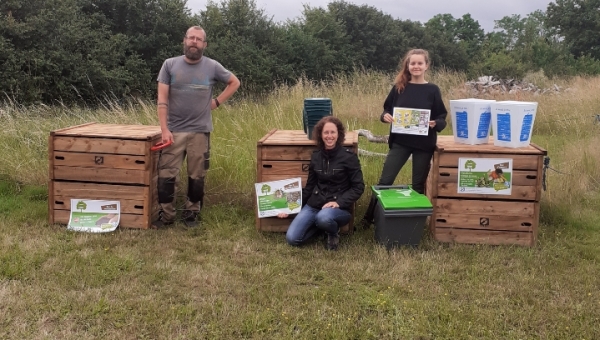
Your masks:
[[[121,218],[119,201],[71,199],[68,230],[106,233],[117,229]]]

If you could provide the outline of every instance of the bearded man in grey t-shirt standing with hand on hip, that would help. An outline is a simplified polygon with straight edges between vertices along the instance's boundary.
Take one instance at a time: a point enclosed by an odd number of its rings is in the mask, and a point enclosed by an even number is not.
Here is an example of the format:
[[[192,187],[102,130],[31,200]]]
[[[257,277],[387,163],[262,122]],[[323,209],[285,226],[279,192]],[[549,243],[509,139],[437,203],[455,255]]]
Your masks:
[[[184,55],[165,60],[158,74],[158,119],[162,142],[172,143],[158,159],[159,218],[155,228],[175,221],[175,182],[187,157],[187,201],[181,214],[188,227],[197,227],[204,200],[204,178],[209,167],[212,110],[240,87],[238,78],[219,62],[204,56],[206,32],[190,27],[183,38]],[[213,98],[213,86],[227,84]]]

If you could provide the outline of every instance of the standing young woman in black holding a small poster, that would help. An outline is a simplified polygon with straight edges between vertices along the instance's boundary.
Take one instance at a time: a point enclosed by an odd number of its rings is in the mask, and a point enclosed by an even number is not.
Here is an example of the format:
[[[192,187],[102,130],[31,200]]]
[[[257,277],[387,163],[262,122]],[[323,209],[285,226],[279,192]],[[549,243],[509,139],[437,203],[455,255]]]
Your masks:
[[[390,151],[387,154],[378,185],[392,185],[396,176],[412,155],[412,188],[423,194],[429,173],[431,158],[437,143],[437,132],[446,127],[446,107],[439,87],[425,80],[429,68],[429,54],[422,49],[408,51],[402,59],[400,73],[394,86],[383,103],[380,120],[391,124],[394,107],[427,109],[431,111],[427,136],[391,133],[388,139]],[[371,196],[362,225],[369,228],[373,223],[373,213],[377,199]]]

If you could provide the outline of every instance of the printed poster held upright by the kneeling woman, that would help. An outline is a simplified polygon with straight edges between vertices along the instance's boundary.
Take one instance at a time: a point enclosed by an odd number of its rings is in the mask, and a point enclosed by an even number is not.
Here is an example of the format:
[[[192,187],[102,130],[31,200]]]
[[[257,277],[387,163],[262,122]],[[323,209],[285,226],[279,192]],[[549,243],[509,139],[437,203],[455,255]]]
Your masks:
[[[258,217],[297,214],[302,207],[301,178],[255,183]]]

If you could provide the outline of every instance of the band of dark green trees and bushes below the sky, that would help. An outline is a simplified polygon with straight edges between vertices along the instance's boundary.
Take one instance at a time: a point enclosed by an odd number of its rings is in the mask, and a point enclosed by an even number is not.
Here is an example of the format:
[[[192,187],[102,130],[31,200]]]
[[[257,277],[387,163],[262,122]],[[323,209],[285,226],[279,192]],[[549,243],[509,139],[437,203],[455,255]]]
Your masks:
[[[261,95],[300,79],[331,80],[356,69],[393,72],[411,48],[433,66],[469,77],[600,74],[600,0],[557,0],[547,11],[496,20],[485,33],[469,13],[425,23],[332,1],[274,22],[254,0],[5,0],[0,2],[0,92],[19,104],[101,103],[152,98],[162,62],[182,53],[191,25],[206,54]]]

